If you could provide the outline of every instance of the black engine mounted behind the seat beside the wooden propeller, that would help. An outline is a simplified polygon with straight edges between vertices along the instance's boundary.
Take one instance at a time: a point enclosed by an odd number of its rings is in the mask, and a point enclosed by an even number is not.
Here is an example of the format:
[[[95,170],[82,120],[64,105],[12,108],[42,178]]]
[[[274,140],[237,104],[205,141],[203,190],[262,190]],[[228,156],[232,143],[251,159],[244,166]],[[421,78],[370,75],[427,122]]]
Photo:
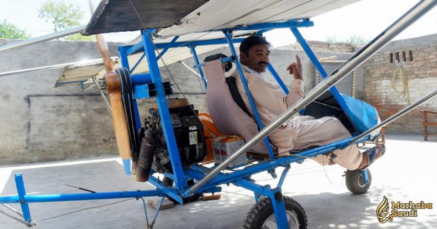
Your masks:
[[[206,156],[206,145],[198,111],[186,99],[171,99],[168,104],[182,166],[202,162]],[[154,109],[149,109],[149,117],[144,121],[145,131],[155,133],[152,169],[159,173],[172,173],[161,121],[155,104]]]

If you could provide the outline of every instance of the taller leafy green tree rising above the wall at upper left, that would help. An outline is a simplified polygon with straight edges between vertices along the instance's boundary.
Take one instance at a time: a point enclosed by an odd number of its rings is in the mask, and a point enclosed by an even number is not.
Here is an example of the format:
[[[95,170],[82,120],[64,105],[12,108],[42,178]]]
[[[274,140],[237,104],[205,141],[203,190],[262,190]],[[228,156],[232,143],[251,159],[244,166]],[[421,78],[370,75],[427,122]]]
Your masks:
[[[79,20],[84,16],[80,6],[54,0],[45,2],[38,12],[39,18],[52,22],[54,32],[80,25]]]

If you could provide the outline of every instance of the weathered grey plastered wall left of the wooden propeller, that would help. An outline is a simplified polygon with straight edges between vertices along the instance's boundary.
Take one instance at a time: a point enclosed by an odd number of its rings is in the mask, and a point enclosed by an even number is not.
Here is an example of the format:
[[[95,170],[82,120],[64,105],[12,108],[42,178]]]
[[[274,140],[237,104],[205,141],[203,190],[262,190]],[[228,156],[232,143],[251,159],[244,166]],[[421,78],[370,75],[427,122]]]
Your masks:
[[[113,55],[118,45],[109,44]],[[0,72],[94,58],[94,42],[50,41],[0,53]],[[0,164],[116,154],[111,117],[98,91],[53,88],[60,72],[0,77]]]

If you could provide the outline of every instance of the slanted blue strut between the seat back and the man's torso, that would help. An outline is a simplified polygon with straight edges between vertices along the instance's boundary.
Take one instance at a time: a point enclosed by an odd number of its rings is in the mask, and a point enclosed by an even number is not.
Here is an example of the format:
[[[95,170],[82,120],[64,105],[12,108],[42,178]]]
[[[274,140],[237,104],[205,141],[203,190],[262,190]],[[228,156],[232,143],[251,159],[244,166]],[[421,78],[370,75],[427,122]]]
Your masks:
[[[235,57],[235,64],[237,65],[238,74],[240,75],[241,81],[242,81],[243,86],[244,86],[244,90],[246,91],[247,98],[249,99],[249,103],[251,103],[252,112],[254,113],[255,119],[258,123],[258,127],[261,130],[263,128],[263,125],[262,125],[261,119],[259,117],[258,110],[255,106],[254,99],[249,91],[249,88],[247,87],[246,78],[244,77],[244,73],[243,73],[243,70],[241,68],[241,64],[240,64],[240,61],[238,59],[237,53],[235,52],[234,44],[232,42],[232,34],[229,31],[226,31],[226,32],[224,32],[224,35],[226,37],[227,43],[229,44],[229,48],[231,49],[231,53]],[[272,147],[270,147],[270,143],[268,142],[268,138],[264,138],[264,143],[265,143],[265,146],[267,147],[267,152],[268,152],[268,155],[270,156],[270,159],[274,159],[275,155],[273,154]]]

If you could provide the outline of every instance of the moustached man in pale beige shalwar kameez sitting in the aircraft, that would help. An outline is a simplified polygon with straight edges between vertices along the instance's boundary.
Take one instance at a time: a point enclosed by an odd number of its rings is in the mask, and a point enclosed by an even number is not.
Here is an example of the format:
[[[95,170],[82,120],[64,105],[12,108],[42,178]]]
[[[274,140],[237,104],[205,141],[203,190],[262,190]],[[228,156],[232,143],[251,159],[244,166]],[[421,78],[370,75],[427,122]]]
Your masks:
[[[247,37],[240,44],[240,62],[244,77],[264,126],[275,120],[304,95],[302,65],[299,56],[296,56],[296,63],[287,67],[289,74],[294,76],[288,95],[284,95],[280,88],[269,83],[261,75],[266,71],[269,62],[269,46],[269,43],[260,36]],[[245,106],[254,117],[238,71],[235,71],[232,76],[236,78],[237,88]],[[334,117],[315,119],[310,116],[300,116],[283,123],[268,138],[278,148],[279,155],[283,156],[289,155],[288,151],[291,149],[326,145],[350,138],[350,136],[349,131]],[[345,149],[335,150],[333,153],[337,157],[333,161],[348,170],[365,169],[384,152],[384,146],[376,146],[361,153],[356,145],[351,145]],[[322,165],[334,164],[329,161],[330,155],[318,155],[314,159]]]

